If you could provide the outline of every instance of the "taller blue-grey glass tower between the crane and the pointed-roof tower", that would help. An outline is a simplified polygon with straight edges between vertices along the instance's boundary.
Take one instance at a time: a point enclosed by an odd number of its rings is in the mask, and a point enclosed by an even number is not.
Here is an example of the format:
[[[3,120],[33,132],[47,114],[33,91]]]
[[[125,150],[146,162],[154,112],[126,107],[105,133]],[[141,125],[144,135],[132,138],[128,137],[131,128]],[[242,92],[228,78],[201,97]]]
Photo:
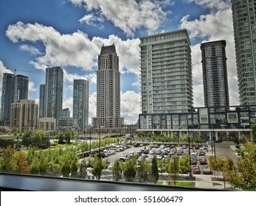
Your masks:
[[[53,117],[58,121],[62,116],[63,102],[63,69],[60,67],[46,68],[44,117]]]

